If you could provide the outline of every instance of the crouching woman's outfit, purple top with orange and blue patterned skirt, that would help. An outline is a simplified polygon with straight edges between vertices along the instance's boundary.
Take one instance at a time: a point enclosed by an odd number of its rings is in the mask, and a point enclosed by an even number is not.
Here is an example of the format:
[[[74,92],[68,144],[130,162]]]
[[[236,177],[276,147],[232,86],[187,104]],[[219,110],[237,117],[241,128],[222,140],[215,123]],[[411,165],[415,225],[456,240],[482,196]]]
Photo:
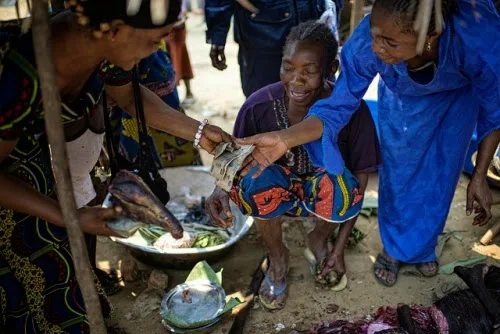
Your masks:
[[[281,82],[250,96],[238,114],[235,137],[288,128],[290,121],[284,97]],[[316,168],[306,150],[295,147],[256,179],[252,178],[252,171],[236,179],[229,195],[240,211],[261,220],[283,215],[316,216],[331,223],[343,223],[356,217],[363,194],[351,171],[368,173],[380,165],[375,125],[366,104],[361,106],[338,138],[347,167],[342,174]]]

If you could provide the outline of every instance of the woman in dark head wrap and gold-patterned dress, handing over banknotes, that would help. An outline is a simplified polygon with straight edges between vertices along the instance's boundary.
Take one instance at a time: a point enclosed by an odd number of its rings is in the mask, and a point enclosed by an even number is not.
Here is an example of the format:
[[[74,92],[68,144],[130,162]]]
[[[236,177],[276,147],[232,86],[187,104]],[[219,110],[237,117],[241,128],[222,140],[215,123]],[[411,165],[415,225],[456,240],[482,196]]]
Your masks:
[[[135,16],[127,15],[125,0],[70,4],[73,11],[52,18],[52,51],[62,117],[78,135],[89,128],[103,89],[135,114],[128,71],[157,50],[177,19],[180,1],[169,2],[162,25],[152,22],[149,1]],[[86,310],[54,191],[35,64],[30,32],[0,41],[0,332],[86,333]],[[209,152],[230,140],[219,128],[200,126],[171,109],[146,88],[141,93],[153,128],[191,141],[196,136]],[[117,213],[82,208],[80,226],[89,234],[112,235],[105,222]],[[110,316],[112,308],[96,284],[103,313]]]

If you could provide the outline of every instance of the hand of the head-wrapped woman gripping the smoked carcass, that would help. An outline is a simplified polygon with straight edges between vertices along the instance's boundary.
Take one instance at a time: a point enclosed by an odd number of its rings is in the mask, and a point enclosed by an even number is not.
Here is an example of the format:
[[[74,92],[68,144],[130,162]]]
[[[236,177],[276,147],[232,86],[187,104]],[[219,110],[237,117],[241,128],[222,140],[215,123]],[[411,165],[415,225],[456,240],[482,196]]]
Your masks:
[[[118,217],[122,213],[122,208],[102,208],[86,207],[78,210],[80,228],[83,232],[93,235],[102,235],[105,237],[120,237],[106,224],[110,219]]]

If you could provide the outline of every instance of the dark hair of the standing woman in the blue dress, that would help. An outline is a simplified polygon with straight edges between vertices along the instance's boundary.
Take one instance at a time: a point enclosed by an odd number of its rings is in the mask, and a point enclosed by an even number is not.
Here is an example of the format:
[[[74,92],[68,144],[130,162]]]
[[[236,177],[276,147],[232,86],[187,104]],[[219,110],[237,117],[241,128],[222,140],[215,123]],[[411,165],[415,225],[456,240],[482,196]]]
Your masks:
[[[413,23],[417,18],[420,1],[421,0],[376,0],[372,12],[383,11],[386,14],[395,15],[396,23],[401,27],[402,32],[413,33]],[[440,30],[437,28],[441,28],[436,26],[435,10],[436,8],[433,4],[428,30],[430,33]],[[456,0],[441,0],[441,12],[445,21],[457,11],[458,4]]]

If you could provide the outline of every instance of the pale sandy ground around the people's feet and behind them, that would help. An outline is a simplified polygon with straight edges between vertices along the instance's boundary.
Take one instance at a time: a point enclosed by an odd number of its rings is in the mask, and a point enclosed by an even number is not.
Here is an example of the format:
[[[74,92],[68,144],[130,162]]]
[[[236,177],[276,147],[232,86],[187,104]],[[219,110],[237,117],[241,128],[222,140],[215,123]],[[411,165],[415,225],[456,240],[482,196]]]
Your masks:
[[[0,10],[0,17],[5,18],[12,14]],[[228,38],[226,57],[228,69],[219,72],[212,68],[208,57],[209,47],[205,44],[205,24],[202,16],[191,15],[188,20],[188,48],[194,68],[195,79],[192,89],[197,103],[188,110],[188,113],[197,118],[209,118],[211,123],[231,131],[239,107],[244,101],[239,81],[239,67],[237,64],[237,45]],[[181,97],[184,88],[179,89]],[[210,164],[210,157],[203,156],[205,164]],[[373,175],[369,189],[377,190],[377,176]],[[454,202],[447,221],[446,230],[459,231],[463,240],[452,239],[448,242],[442,257],[441,264],[457,259],[477,255],[473,250],[475,242],[486,231],[487,227],[472,227],[471,219],[465,216],[465,189],[468,179],[462,177],[457,187]],[[411,194],[409,194],[411,196]],[[499,194],[495,194],[498,198]],[[494,222],[498,220],[500,208],[494,209]],[[286,243],[290,249],[290,278],[289,300],[284,310],[280,312],[266,312],[256,308],[250,313],[245,333],[275,333],[277,328],[284,326],[281,332],[288,333],[292,328],[308,328],[311,323],[331,320],[334,318],[352,318],[365,316],[381,305],[396,305],[397,303],[432,302],[433,293],[446,282],[456,281],[453,275],[439,275],[432,279],[415,276],[411,266],[403,267],[397,285],[385,288],[378,284],[372,274],[372,263],[381,250],[381,242],[377,228],[376,217],[370,219],[360,217],[357,227],[367,237],[357,246],[346,251],[346,265],[348,270],[348,288],[342,292],[333,293],[324,291],[315,285],[309,274],[309,266],[302,256],[305,245],[300,221],[289,221],[284,224]],[[497,239],[497,241],[499,241]],[[262,240],[253,228],[247,236],[236,245],[227,256],[214,265],[215,269],[224,268],[224,289],[228,294],[241,296],[251,280],[251,275],[264,254]],[[484,250],[483,250],[484,251]],[[492,257],[488,260],[496,263],[500,258],[500,250],[491,246],[485,250]],[[127,254],[124,247],[107,239],[101,239],[98,246],[98,261],[103,268],[119,268],[122,259]],[[151,268],[140,267],[147,272]],[[181,283],[188,271],[167,270],[169,287]],[[135,283],[125,283],[124,289],[111,297],[117,309],[117,316],[113,324],[119,326],[126,333],[165,333],[160,322],[158,312],[145,314],[139,320],[130,319],[137,296],[146,288],[145,280]],[[331,304],[339,306],[335,314],[328,314],[327,308]],[[224,320],[211,333],[227,333],[232,324],[232,317]],[[281,326],[282,325],[282,326]]]

